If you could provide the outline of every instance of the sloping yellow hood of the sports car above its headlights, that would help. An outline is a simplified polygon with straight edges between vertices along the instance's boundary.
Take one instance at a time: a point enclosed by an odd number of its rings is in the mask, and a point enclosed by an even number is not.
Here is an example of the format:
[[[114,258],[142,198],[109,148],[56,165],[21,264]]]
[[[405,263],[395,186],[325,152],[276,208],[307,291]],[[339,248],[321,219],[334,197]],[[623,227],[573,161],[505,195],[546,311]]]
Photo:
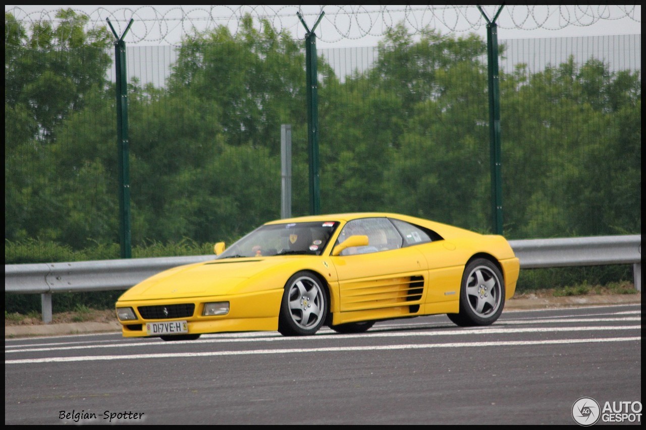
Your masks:
[[[279,265],[283,258],[213,260],[174,267],[143,280],[122,300],[158,300],[231,294],[249,278]]]

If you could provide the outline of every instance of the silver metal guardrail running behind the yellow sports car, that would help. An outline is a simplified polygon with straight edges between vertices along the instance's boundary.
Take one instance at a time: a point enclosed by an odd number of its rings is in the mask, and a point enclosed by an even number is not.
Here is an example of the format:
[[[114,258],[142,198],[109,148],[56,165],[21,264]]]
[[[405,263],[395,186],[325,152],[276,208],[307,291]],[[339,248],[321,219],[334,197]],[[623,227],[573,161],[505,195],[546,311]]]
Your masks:
[[[522,269],[632,264],[641,291],[641,234],[509,241]],[[43,321],[52,321],[52,293],[126,290],[150,276],[213,255],[5,265],[5,294],[41,294]]]

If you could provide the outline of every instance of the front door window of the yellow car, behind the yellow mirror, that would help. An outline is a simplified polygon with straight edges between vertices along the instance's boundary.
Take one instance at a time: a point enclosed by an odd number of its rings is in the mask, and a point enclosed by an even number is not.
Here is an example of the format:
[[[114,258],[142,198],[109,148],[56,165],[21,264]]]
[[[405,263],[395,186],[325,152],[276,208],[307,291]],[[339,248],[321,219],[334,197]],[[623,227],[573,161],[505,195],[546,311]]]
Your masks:
[[[349,221],[341,230],[337,245],[355,235],[368,236],[368,246],[346,248],[341,255],[388,251],[401,248],[403,243],[401,235],[387,218],[362,218]]]

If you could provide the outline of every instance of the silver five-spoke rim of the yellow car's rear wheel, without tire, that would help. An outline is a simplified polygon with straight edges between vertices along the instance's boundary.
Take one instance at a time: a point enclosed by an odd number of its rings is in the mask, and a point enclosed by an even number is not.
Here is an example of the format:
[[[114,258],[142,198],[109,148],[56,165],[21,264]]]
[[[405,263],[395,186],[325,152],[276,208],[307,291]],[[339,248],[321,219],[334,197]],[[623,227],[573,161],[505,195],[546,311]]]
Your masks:
[[[486,265],[478,265],[466,282],[466,299],[477,316],[487,318],[495,314],[502,302],[502,287],[498,275]]]

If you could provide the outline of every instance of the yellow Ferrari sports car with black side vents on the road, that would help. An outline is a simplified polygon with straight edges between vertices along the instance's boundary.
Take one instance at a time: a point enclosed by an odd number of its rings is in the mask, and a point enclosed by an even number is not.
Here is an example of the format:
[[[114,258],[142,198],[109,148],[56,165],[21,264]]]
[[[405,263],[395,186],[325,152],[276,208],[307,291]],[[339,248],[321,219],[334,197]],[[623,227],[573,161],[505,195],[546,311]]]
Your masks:
[[[489,325],[514,295],[505,238],[412,216],[354,213],[266,223],[214,260],[160,272],[116,303],[123,336],[362,333],[380,320],[447,314]]]

